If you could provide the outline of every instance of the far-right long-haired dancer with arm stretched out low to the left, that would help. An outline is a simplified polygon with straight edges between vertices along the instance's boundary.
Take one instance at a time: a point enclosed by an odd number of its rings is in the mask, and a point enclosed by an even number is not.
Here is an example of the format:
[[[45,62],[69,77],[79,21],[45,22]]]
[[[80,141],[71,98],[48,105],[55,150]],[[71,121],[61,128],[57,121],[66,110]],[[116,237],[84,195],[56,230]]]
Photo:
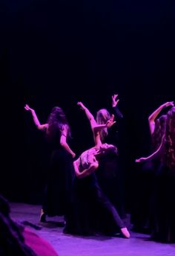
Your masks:
[[[156,158],[160,164],[156,171],[152,238],[160,242],[174,243],[175,107],[168,111],[165,133],[157,150],[148,157],[136,159],[136,162]]]

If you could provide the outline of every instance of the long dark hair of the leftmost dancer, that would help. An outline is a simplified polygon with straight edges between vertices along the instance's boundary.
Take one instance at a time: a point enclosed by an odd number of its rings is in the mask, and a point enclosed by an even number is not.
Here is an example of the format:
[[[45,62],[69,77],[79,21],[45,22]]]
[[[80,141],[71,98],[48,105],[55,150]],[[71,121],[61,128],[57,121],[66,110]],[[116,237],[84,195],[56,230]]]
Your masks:
[[[68,124],[67,118],[65,116],[64,111],[59,106],[54,106],[47,120],[48,128],[47,128],[47,139],[52,140],[56,132],[59,129],[59,132],[62,132],[64,127],[67,128],[67,135],[71,137],[70,126]]]

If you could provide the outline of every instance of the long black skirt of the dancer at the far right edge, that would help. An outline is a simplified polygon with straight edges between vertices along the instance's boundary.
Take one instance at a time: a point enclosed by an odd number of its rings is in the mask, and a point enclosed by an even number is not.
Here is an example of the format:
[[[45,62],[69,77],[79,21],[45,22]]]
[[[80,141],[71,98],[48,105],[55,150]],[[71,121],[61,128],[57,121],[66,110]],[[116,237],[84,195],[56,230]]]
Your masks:
[[[156,171],[153,193],[154,240],[175,243],[175,167],[164,165]]]

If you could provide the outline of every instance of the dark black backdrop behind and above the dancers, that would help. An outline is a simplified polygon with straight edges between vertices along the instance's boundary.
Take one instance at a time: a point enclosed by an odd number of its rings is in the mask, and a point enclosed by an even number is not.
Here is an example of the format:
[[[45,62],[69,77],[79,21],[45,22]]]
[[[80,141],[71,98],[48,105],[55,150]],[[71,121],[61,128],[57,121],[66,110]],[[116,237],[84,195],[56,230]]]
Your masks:
[[[11,201],[41,203],[47,147],[24,104],[44,123],[53,106],[70,122],[73,149],[93,144],[82,100],[96,113],[119,94],[125,116],[128,209],[139,193],[136,157],[150,152],[148,115],[174,100],[174,1],[0,3],[1,178]],[[146,180],[148,182],[148,179]],[[149,184],[148,184],[149,186]]]

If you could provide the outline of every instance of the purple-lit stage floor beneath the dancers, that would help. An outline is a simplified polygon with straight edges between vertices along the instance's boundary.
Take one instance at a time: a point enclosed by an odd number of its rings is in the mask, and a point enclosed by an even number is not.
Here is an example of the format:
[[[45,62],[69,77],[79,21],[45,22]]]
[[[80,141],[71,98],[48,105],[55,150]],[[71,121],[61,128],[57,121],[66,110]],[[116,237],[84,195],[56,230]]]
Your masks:
[[[11,217],[21,223],[39,224],[39,205],[10,203]],[[174,256],[175,244],[155,243],[146,234],[131,232],[130,239],[120,237],[79,237],[62,233],[62,217],[47,218],[36,231],[48,240],[59,256]],[[48,255],[49,256],[49,255]]]

